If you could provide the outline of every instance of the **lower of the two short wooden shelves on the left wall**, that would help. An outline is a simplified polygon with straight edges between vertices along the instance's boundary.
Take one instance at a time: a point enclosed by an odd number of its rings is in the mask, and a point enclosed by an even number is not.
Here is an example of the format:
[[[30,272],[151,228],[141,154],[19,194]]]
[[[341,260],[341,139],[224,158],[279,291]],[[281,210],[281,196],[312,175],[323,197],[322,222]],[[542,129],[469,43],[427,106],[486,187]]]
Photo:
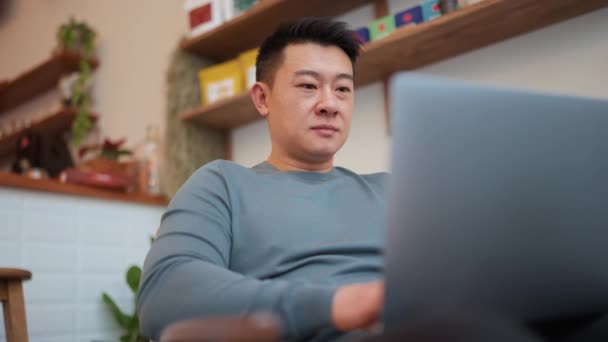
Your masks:
[[[11,135],[0,138],[0,157],[12,153],[15,150],[17,139],[25,131],[35,132],[52,132],[59,133],[65,132],[72,126],[72,121],[76,117],[77,109],[75,108],[62,108],[57,113],[49,115],[38,122],[32,123],[28,128],[24,128],[19,132],[14,132]],[[91,119],[97,121],[97,115],[92,114]]]

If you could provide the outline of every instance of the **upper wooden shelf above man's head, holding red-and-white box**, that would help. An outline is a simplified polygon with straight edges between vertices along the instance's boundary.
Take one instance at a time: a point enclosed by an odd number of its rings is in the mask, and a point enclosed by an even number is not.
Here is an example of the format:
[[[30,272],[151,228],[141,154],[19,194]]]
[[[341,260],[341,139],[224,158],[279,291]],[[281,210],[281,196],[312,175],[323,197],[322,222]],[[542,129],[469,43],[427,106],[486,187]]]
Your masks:
[[[264,0],[244,14],[195,38],[185,38],[182,49],[223,61],[259,46],[280,18],[292,20],[309,16],[335,16],[373,0]]]

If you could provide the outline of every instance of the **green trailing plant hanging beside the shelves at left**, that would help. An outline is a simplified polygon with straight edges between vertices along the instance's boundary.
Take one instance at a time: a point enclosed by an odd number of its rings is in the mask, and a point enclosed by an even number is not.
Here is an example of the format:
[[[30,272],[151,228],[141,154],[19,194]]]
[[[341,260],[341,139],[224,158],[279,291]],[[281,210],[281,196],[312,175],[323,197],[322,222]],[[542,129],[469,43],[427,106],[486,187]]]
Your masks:
[[[78,79],[72,88],[70,98],[70,105],[78,109],[72,122],[72,141],[74,144],[80,145],[82,139],[93,128],[93,121],[90,118],[91,65],[89,58],[95,52],[95,31],[84,21],[78,22],[74,18],[70,18],[69,22],[59,27],[57,40],[61,51],[80,53]]]

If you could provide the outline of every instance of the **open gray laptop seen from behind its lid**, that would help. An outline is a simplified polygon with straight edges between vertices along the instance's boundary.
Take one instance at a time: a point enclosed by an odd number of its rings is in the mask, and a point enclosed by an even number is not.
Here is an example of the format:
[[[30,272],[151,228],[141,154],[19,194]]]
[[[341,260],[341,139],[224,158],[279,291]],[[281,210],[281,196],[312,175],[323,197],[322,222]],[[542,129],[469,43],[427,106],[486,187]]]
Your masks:
[[[385,327],[608,312],[608,101],[414,73],[390,87]]]

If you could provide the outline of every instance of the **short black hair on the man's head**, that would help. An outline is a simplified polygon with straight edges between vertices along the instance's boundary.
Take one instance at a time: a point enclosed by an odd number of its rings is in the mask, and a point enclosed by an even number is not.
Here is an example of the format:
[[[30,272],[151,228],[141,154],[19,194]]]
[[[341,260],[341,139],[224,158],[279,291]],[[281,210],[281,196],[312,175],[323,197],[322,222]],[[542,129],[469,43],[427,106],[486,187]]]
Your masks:
[[[260,46],[255,63],[256,80],[272,85],[276,69],[283,62],[283,50],[290,44],[300,43],[339,47],[350,59],[353,70],[361,50],[361,41],[355,31],[350,30],[344,22],[330,18],[284,22]]]

